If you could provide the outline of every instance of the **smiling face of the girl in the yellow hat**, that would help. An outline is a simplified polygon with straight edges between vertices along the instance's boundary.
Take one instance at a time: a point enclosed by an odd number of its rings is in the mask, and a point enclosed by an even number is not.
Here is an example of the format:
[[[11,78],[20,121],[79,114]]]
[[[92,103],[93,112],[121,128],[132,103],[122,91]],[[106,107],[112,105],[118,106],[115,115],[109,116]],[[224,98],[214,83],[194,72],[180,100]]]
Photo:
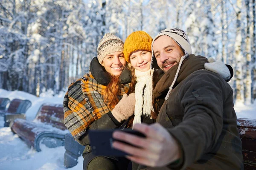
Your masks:
[[[150,69],[151,52],[145,50],[137,50],[131,53],[130,61],[134,69],[145,72]]]

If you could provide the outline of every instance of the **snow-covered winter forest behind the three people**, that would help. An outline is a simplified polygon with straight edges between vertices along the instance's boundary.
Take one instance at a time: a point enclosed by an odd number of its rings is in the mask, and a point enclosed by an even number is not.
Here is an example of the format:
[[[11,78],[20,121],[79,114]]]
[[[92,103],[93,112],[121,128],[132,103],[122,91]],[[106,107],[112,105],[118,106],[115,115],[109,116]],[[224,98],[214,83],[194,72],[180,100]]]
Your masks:
[[[255,0],[0,0],[0,88],[66,91],[107,32],[151,37],[179,27],[192,53],[234,69],[234,99],[256,99]]]

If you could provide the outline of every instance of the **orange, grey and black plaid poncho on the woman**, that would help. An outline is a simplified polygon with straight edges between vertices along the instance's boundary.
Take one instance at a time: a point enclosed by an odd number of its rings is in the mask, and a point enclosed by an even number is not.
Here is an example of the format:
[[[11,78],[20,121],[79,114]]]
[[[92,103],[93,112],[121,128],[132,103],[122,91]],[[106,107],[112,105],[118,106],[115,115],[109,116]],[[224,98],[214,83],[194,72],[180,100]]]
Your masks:
[[[129,85],[121,89],[120,97],[128,92]],[[69,86],[63,102],[64,123],[75,140],[86,132],[91,123],[110,111],[102,96],[105,88],[90,72]]]

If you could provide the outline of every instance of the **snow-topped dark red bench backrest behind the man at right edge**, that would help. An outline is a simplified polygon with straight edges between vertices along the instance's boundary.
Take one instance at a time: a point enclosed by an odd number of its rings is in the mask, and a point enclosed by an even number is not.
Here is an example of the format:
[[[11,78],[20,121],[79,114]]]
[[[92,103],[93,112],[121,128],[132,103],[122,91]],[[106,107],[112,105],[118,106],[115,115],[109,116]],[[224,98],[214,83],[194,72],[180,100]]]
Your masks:
[[[244,170],[256,170],[256,119],[237,119],[242,141]]]

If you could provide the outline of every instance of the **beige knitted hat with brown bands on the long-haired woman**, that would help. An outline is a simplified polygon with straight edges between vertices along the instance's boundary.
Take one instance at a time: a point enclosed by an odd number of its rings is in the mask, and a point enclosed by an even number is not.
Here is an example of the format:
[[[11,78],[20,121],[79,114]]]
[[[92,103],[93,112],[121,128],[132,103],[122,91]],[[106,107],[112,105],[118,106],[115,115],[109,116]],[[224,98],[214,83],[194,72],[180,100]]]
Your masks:
[[[102,63],[106,55],[117,51],[122,52],[123,50],[124,42],[119,37],[111,33],[105,34],[103,38],[99,41],[99,45],[97,48],[97,57],[99,63]]]

